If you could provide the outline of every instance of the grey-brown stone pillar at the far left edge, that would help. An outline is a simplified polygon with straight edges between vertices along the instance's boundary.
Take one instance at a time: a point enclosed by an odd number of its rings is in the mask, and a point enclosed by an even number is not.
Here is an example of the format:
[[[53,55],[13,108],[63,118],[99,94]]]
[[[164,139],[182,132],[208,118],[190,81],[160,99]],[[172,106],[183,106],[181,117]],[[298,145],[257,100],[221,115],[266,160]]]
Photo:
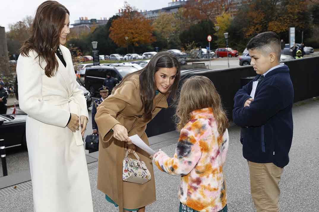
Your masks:
[[[8,45],[4,27],[0,26],[0,75],[10,75]]]

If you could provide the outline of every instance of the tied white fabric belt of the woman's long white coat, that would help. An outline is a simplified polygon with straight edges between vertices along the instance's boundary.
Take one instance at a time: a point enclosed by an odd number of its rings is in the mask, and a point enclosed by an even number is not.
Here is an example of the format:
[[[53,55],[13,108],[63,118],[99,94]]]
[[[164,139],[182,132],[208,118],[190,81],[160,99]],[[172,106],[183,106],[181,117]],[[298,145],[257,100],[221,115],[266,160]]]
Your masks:
[[[63,98],[61,96],[53,96],[53,97],[50,97],[50,99],[43,99],[43,101],[48,101],[56,106],[65,105],[69,103],[70,113],[74,113],[78,117],[80,117],[81,106],[78,103],[77,99],[73,97],[73,95],[71,95],[68,98]],[[79,130],[73,132],[73,137],[77,146],[83,145],[83,138],[81,135],[81,126],[79,127]]]

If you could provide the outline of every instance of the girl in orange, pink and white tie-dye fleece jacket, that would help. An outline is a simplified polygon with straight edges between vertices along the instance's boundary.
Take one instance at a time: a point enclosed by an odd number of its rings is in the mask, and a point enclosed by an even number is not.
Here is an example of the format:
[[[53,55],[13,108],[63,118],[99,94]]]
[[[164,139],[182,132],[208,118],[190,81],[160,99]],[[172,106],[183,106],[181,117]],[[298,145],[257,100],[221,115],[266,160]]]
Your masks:
[[[227,211],[223,166],[228,150],[228,120],[213,83],[204,76],[187,79],[176,109],[180,138],[173,158],[159,151],[157,167],[180,175],[180,211]]]

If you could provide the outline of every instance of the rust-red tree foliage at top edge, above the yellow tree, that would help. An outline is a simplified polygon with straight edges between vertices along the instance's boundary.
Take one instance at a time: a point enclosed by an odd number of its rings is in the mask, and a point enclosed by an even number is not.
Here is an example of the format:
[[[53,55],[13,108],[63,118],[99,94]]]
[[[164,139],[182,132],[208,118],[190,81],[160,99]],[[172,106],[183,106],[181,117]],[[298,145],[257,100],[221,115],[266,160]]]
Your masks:
[[[185,5],[185,17],[189,18],[193,23],[201,20],[212,20],[227,12],[233,0],[188,0]]]

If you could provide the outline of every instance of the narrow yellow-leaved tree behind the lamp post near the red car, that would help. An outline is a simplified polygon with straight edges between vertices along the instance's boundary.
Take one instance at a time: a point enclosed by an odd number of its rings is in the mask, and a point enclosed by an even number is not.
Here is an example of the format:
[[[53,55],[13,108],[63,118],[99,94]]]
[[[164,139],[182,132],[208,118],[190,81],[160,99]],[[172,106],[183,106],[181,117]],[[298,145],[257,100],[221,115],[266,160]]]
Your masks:
[[[217,36],[217,45],[218,46],[226,46],[226,41],[224,38],[224,33],[228,32],[229,26],[233,20],[232,16],[230,13],[222,13],[221,15],[217,16],[215,18],[216,26],[218,27],[218,30],[216,31],[215,35]]]

